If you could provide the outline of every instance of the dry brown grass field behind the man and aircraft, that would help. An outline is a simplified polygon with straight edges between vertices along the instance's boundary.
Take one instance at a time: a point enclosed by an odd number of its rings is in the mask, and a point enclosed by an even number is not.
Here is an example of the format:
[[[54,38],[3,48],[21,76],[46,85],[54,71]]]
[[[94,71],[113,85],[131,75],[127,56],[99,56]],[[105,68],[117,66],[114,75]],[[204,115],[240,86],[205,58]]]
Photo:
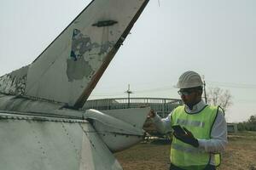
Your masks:
[[[140,143],[115,154],[124,170],[166,170],[170,165],[170,144],[163,140]],[[229,135],[222,155],[221,170],[256,170],[256,133]]]

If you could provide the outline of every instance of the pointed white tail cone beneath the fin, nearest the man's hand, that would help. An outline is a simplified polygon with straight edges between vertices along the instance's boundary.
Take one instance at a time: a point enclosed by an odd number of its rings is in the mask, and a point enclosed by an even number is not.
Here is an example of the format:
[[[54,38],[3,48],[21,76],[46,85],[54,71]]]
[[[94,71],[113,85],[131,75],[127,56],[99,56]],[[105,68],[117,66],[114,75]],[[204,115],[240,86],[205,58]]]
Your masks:
[[[143,139],[143,124],[150,108],[116,110],[108,114],[96,111],[85,111],[84,117],[90,118],[97,133],[109,150],[125,150]],[[109,116],[112,115],[112,116]],[[122,118],[116,118],[116,117]],[[132,117],[132,118],[131,118]]]

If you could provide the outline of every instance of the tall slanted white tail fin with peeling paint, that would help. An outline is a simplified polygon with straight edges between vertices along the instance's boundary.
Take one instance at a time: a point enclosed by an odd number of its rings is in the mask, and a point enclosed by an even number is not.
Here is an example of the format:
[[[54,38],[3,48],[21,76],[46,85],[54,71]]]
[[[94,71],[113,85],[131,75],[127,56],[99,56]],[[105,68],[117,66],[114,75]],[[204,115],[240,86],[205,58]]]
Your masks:
[[[37,59],[0,77],[0,93],[81,108],[148,0],[93,0]]]

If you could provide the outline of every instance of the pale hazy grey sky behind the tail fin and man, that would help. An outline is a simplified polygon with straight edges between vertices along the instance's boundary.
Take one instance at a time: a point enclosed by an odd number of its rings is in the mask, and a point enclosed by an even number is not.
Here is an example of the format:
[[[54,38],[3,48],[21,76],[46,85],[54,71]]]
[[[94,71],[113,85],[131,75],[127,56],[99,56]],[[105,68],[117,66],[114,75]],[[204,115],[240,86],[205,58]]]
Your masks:
[[[2,0],[0,75],[29,65],[90,3]],[[151,0],[90,99],[179,99],[178,77],[197,71],[207,88],[230,90],[227,122],[256,115],[256,1]]]

